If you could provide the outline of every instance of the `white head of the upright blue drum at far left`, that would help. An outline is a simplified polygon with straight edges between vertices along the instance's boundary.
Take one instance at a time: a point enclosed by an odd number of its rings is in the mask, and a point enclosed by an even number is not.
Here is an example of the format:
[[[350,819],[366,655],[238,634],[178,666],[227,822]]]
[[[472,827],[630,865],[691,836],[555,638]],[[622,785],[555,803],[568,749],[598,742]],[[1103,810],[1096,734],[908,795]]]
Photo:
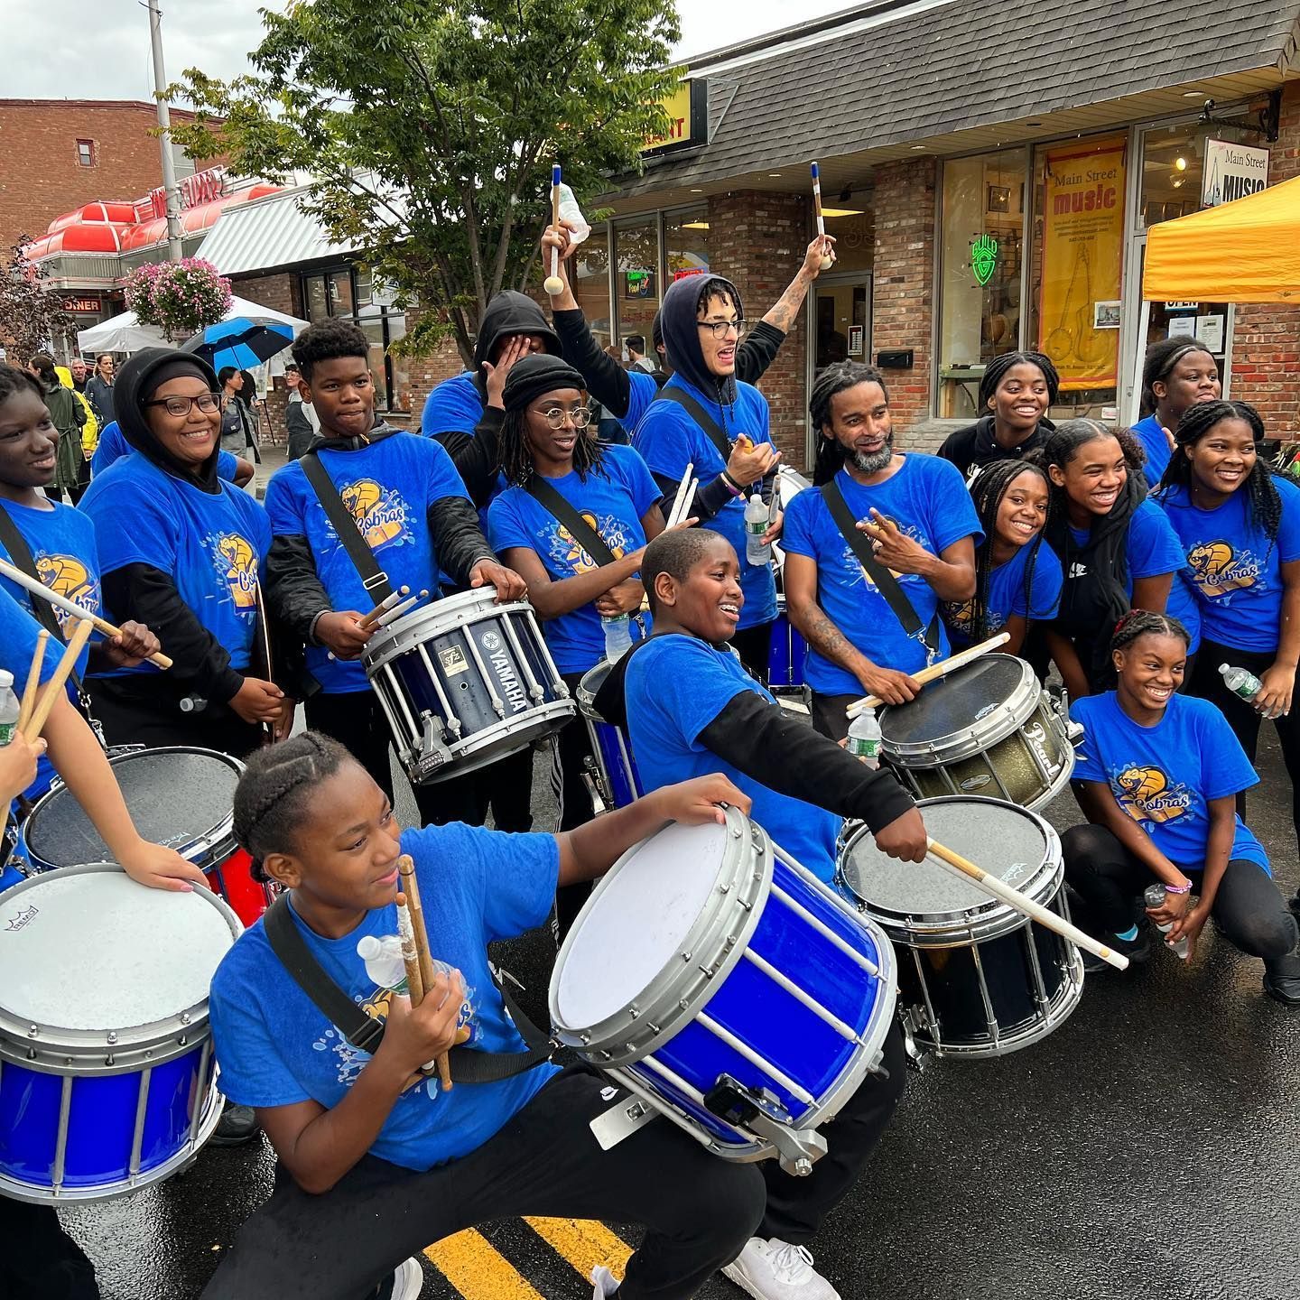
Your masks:
[[[126,1030],[204,1002],[239,922],[200,890],[72,868],[0,896],[0,1006],[65,1030]]]

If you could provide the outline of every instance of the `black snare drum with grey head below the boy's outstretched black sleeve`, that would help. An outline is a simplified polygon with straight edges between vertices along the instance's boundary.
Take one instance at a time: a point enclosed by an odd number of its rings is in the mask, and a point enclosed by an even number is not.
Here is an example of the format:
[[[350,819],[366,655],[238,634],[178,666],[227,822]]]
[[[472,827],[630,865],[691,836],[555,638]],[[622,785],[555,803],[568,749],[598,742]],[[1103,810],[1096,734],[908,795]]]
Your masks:
[[[918,805],[926,831],[991,875],[1070,919],[1061,841],[1036,812],[1000,800]],[[900,1006],[914,1040],[939,1056],[992,1057],[1045,1037],[1079,1005],[1074,944],[953,875],[933,858],[887,858],[866,828],[840,876],[911,959],[898,962]]]

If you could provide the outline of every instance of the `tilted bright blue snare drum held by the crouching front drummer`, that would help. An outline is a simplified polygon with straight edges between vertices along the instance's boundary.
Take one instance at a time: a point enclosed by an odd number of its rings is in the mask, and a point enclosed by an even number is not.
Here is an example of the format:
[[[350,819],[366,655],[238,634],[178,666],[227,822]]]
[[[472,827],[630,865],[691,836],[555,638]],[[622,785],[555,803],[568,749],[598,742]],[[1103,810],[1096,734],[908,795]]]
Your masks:
[[[806,1174],[879,1070],[893,950],[736,809],[629,849],[551,976],[559,1041],[710,1150]]]

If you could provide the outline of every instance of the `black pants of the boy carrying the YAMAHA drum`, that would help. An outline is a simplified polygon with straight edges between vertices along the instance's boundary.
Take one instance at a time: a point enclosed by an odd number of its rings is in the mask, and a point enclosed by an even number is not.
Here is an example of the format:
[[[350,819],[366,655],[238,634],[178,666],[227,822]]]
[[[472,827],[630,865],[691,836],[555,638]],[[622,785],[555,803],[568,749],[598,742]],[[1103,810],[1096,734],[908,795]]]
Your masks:
[[[391,800],[391,733],[380,697],[373,690],[348,690],[333,696],[318,690],[308,697],[306,712],[307,725],[333,736]],[[448,822],[482,826],[490,806],[499,831],[530,831],[533,750],[528,748],[465,776],[433,785],[413,785],[412,790],[425,826],[446,826]]]

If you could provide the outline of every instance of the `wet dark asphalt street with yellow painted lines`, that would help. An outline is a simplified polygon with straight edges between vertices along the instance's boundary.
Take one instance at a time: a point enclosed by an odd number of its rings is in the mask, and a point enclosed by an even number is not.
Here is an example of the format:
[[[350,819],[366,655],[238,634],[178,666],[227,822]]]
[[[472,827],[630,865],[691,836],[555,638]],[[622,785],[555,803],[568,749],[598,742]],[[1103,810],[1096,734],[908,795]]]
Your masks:
[[[1271,732],[1249,820],[1290,893],[1300,872]],[[537,776],[545,818],[542,764]],[[1049,819],[1079,820],[1069,794]],[[845,1300],[1300,1300],[1300,1011],[1265,998],[1261,965],[1212,930],[1190,967],[1156,952],[1088,976],[1074,1015],[1020,1053],[909,1076],[867,1175],[812,1245]],[[549,935],[503,949],[545,1022]],[[270,1176],[260,1140],[208,1149],[187,1174],[65,1222],[107,1300],[192,1300]],[[490,1225],[439,1253],[456,1287],[425,1261],[421,1300],[590,1296],[577,1269],[608,1247],[602,1231]],[[741,1292],[715,1278],[699,1295]]]

